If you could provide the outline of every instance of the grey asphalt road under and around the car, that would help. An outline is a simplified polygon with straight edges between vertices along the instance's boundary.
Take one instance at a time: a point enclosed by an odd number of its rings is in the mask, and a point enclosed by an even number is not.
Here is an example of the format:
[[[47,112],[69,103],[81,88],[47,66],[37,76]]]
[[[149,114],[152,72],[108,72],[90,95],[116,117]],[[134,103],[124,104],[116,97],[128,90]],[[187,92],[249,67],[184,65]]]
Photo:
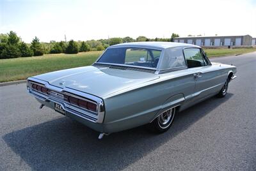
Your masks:
[[[256,170],[256,52],[211,59],[237,66],[225,98],[176,116],[172,129],[98,133],[39,104],[25,84],[0,87],[0,170]]]

